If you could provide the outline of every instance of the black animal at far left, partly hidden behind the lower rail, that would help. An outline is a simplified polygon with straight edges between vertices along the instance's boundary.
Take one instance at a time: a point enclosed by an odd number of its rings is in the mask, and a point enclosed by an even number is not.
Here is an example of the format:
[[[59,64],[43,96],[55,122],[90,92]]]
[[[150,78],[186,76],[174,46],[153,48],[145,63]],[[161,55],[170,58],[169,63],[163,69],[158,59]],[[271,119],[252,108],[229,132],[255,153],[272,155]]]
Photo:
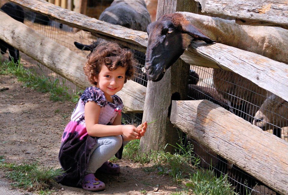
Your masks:
[[[24,12],[22,7],[16,5],[14,3],[5,3],[0,8],[4,13],[7,13],[13,19],[16,19],[19,22],[24,22]],[[9,51],[9,60],[14,61],[14,63],[18,64],[19,59],[19,50],[14,48],[13,46],[7,44],[6,42],[0,40],[0,49],[1,54],[6,53],[7,49]]]

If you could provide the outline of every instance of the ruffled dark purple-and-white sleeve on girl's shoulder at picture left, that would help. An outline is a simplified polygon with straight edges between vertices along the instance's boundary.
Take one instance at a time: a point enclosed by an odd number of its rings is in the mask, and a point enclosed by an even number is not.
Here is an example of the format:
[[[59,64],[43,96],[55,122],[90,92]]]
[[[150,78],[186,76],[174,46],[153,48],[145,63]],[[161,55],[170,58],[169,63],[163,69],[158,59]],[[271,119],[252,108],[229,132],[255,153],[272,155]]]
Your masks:
[[[104,93],[97,87],[87,87],[80,99],[84,102],[84,105],[88,101],[94,101],[99,106],[103,107],[106,103]]]

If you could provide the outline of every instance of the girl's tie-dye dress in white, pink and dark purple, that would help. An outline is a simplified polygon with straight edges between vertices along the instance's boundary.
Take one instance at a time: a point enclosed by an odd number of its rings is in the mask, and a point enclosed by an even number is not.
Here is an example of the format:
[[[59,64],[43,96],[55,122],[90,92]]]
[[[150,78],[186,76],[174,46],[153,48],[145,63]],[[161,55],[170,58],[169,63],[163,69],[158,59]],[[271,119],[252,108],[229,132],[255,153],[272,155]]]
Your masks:
[[[113,103],[107,101],[104,93],[97,87],[88,87],[83,92],[61,139],[58,158],[65,173],[57,178],[57,182],[67,186],[81,187],[91,149],[98,138],[89,136],[86,131],[85,103],[94,101],[101,106],[98,123],[112,125],[123,108],[122,100],[117,95],[112,95],[112,99]],[[123,145],[116,154],[119,159],[122,156],[122,150]]]

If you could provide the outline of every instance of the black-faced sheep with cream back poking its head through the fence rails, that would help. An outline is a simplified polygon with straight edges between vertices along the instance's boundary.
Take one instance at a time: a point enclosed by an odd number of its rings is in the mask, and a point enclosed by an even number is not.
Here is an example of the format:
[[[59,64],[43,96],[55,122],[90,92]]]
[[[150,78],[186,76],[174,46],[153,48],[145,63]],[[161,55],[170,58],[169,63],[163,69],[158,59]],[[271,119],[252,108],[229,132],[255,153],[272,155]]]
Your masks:
[[[193,40],[203,40],[206,43],[216,41],[288,64],[288,30],[278,27],[238,25],[234,20],[176,12],[149,24],[147,32],[145,69],[147,78],[152,81],[162,79],[164,70],[183,54]],[[263,105],[269,98],[267,91],[250,80],[233,72],[214,69],[213,84],[217,92],[231,102],[234,110],[241,109],[238,116],[245,120],[252,123],[255,119],[254,124],[262,129],[268,128],[268,125],[261,120],[271,121],[269,117],[274,118],[274,124],[269,125],[269,128],[287,126],[283,122],[288,120],[287,113],[281,108],[287,108],[287,102],[284,101],[277,108],[267,108],[268,104]],[[273,100],[278,101],[277,96],[275,97]],[[256,112],[260,107],[263,107],[262,110],[273,110],[274,114],[270,112],[269,117],[266,114],[266,117],[259,118],[259,113],[256,116]]]

